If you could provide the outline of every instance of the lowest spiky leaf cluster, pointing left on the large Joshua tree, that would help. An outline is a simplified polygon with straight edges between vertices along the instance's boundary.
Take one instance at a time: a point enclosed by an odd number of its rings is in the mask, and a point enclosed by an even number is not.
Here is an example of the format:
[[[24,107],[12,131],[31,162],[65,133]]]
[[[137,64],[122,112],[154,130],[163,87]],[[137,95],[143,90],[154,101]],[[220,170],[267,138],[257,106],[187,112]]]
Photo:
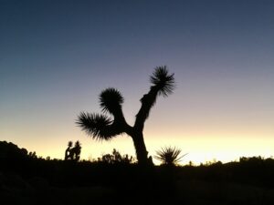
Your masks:
[[[92,138],[108,140],[116,134],[111,128],[112,120],[105,115],[81,112],[77,124]]]

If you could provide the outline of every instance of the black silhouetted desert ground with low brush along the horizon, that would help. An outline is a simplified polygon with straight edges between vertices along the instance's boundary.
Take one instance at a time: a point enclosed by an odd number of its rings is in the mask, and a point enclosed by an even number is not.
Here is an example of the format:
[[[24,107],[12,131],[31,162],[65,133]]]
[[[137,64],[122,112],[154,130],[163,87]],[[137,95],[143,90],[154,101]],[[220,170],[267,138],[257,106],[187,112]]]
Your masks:
[[[131,201],[130,204],[272,205],[274,201],[274,159],[243,157],[226,164],[169,169],[143,168],[117,149],[92,161],[43,159],[34,153],[0,141],[1,204]]]

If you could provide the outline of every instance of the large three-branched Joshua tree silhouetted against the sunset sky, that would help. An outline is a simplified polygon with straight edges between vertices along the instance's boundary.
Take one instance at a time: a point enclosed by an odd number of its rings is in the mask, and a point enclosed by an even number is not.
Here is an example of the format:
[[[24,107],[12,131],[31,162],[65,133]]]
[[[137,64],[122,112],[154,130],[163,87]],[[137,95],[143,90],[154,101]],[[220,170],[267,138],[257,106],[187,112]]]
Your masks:
[[[110,140],[122,133],[132,137],[139,164],[150,163],[143,140],[143,126],[149,117],[151,108],[156,102],[157,96],[167,97],[174,90],[174,74],[169,74],[166,67],[156,67],[150,77],[153,84],[147,94],[141,98],[142,106],[136,115],[133,126],[128,125],[122,110],[123,97],[115,88],[107,88],[100,93],[100,108],[104,114],[81,112],[78,118],[78,125],[88,135],[95,139]],[[107,117],[109,113],[113,118]],[[151,159],[151,158],[150,158]]]

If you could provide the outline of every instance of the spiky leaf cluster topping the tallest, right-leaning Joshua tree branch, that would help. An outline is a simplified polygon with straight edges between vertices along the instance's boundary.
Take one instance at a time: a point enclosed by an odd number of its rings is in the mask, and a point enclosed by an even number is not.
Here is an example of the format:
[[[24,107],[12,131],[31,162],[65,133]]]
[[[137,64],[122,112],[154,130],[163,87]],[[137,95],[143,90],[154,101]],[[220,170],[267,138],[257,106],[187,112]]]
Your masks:
[[[156,67],[150,80],[154,87],[159,90],[159,95],[167,97],[173,93],[175,88],[174,74],[169,75],[167,67]]]

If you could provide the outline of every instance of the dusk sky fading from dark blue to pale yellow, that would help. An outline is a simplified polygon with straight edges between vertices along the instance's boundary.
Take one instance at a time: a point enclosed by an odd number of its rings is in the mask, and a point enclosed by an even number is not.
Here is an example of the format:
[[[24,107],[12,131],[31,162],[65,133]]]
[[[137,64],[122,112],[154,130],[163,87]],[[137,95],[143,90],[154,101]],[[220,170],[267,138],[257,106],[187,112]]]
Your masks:
[[[115,87],[132,125],[153,68],[167,66],[176,89],[145,123],[149,155],[272,157],[273,36],[271,0],[0,0],[0,140],[52,159],[69,140],[81,159],[134,155],[130,137],[96,141],[75,122]]]

